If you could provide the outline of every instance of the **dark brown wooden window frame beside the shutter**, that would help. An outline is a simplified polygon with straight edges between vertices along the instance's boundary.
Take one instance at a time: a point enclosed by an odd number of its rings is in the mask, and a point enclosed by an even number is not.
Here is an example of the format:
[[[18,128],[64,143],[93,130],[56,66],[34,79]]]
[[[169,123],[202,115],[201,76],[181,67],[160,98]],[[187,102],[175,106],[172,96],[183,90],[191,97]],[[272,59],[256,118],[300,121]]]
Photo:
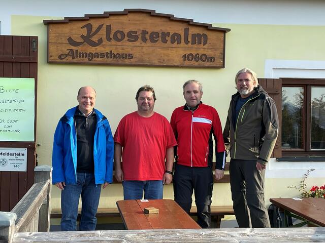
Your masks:
[[[303,107],[303,120],[302,120],[303,149],[282,149],[281,148],[282,157],[313,157],[313,156],[323,156],[325,153],[325,149],[323,150],[311,149],[311,87],[312,86],[325,87],[325,79],[282,78],[282,87],[303,87],[304,88],[304,107]],[[307,133],[307,131],[309,132]]]

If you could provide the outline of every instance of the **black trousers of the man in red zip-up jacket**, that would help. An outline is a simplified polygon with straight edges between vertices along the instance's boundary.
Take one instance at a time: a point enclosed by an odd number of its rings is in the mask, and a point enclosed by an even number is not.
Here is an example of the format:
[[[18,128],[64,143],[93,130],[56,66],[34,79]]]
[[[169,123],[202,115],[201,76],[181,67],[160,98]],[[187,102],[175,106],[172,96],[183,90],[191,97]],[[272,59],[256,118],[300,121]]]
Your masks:
[[[198,224],[202,228],[211,227],[211,197],[213,172],[211,167],[175,166],[174,199],[189,214],[194,190],[198,209]]]

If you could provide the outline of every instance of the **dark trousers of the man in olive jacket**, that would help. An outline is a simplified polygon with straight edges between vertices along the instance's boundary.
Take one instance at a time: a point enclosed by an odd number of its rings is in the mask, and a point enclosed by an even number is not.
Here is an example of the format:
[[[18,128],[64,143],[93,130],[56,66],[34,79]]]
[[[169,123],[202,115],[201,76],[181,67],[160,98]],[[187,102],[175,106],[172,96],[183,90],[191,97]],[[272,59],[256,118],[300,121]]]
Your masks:
[[[232,158],[229,173],[233,207],[239,227],[270,227],[264,199],[265,170],[256,169],[256,160]]]

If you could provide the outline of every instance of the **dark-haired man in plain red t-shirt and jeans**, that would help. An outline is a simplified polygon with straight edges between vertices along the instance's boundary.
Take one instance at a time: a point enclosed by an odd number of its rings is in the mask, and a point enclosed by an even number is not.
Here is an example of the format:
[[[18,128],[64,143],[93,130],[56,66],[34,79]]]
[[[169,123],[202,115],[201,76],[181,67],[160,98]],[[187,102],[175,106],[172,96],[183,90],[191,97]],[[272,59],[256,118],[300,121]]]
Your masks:
[[[143,192],[144,199],[162,199],[163,185],[173,179],[177,142],[166,117],[153,111],[153,88],[141,87],[136,100],[138,110],[121,119],[114,135],[115,177],[123,184],[124,200],[142,199]]]

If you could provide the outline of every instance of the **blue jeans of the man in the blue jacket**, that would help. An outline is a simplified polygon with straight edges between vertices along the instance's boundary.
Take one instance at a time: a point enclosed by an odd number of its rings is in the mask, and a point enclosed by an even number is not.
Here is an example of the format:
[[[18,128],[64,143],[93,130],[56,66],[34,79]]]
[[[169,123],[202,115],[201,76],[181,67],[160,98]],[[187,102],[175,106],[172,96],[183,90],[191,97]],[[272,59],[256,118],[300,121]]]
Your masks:
[[[79,230],[96,228],[96,213],[101,195],[101,185],[95,184],[94,174],[77,173],[77,184],[67,184],[61,191],[61,230],[77,230],[78,204],[81,195]]]

